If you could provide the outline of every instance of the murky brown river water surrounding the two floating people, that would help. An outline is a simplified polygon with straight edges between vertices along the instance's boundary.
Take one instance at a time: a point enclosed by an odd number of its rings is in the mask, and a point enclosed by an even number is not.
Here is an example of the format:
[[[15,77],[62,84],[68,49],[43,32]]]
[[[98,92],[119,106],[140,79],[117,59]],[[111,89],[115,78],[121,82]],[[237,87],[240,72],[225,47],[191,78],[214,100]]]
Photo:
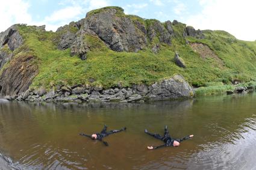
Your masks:
[[[127,127],[104,138],[78,135]],[[180,147],[144,133],[181,138]],[[0,100],[0,153],[23,169],[256,169],[256,94],[145,104],[73,104]],[[0,166],[1,169],[1,166]]]

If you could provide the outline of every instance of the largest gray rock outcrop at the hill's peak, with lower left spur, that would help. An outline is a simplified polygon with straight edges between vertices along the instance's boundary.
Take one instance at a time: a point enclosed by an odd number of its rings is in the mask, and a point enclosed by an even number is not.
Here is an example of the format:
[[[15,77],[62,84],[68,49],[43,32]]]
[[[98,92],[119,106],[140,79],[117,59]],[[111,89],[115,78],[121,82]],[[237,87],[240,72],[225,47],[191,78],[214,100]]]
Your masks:
[[[71,54],[78,54],[83,59],[90,49],[90,44],[84,41],[86,34],[97,36],[117,52],[137,52],[147,44],[145,27],[125,16],[122,8],[106,8],[99,13],[88,13],[81,24],[71,46]]]

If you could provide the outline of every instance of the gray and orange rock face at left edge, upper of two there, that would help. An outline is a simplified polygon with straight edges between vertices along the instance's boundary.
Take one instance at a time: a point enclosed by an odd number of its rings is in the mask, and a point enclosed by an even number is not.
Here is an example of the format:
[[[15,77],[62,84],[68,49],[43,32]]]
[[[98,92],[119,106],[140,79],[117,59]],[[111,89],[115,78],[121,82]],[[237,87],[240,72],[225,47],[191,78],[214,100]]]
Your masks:
[[[23,43],[23,39],[13,25],[0,33],[0,69],[11,59],[12,52]]]

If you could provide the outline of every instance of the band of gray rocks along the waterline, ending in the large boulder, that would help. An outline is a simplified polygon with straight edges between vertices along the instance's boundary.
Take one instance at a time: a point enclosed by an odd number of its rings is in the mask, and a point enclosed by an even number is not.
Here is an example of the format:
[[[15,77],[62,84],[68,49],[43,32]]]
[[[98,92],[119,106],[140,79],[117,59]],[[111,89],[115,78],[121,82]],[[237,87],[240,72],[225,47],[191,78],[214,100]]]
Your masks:
[[[133,85],[131,88],[116,87],[104,90],[102,87],[76,85],[58,87],[48,93],[44,88],[27,90],[19,96],[6,96],[8,100],[28,100],[31,102],[120,102],[143,103],[146,100],[169,100],[193,97],[189,83],[180,75],[154,83],[151,86]]]

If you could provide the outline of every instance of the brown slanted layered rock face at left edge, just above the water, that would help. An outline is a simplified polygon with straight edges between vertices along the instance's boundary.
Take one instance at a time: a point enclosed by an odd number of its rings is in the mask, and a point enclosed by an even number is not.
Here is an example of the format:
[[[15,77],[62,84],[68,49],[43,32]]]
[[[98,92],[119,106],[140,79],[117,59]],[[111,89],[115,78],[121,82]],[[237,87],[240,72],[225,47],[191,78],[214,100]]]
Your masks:
[[[0,95],[12,96],[28,90],[37,75],[37,65],[33,60],[34,56],[16,56],[11,59],[10,66],[0,76]]]

